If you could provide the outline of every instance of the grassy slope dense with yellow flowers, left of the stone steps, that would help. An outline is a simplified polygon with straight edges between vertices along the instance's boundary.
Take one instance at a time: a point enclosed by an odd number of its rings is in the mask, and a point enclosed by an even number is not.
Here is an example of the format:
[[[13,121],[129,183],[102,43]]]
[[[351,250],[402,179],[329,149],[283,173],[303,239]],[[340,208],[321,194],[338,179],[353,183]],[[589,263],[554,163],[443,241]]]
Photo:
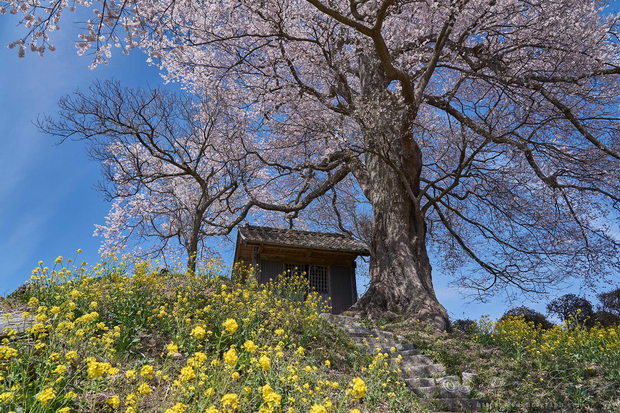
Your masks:
[[[319,317],[303,279],[259,287],[217,261],[162,274],[106,259],[39,263],[6,300],[34,320],[0,347],[0,411],[420,410],[386,355],[360,353]]]

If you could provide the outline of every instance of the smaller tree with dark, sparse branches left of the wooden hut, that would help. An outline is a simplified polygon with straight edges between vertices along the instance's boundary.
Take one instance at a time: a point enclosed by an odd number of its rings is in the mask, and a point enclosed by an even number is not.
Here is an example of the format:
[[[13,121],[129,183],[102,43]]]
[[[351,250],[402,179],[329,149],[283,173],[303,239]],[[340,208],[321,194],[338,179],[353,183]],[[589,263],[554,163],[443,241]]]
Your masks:
[[[97,189],[113,201],[100,252],[135,243],[134,254],[184,249],[188,268],[213,253],[210,237],[241,218],[236,189],[256,168],[239,142],[243,128],[216,95],[197,101],[161,89],[130,89],[118,81],[95,82],[59,102],[56,118],[39,122],[45,133],[87,141],[102,165]],[[234,157],[234,154],[242,155]],[[148,245],[143,249],[142,245]]]

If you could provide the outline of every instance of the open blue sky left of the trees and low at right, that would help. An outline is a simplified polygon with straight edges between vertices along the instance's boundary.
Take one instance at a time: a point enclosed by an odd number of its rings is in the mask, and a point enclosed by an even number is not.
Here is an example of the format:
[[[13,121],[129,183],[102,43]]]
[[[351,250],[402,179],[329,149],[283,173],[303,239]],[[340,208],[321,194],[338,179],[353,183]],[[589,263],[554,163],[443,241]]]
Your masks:
[[[104,224],[110,209],[92,189],[100,178],[99,165],[87,159],[84,144],[66,141],[55,146],[32,124],[37,115],[53,113],[58,98],[87,88],[95,77],[113,76],[131,87],[162,83],[157,67],[149,67],[138,50],[129,56],[113,50],[108,66],[89,70],[91,59],[76,53],[79,30],[69,21],[52,33],[56,51],[47,51],[44,58],[27,52],[19,59],[17,49],[6,48],[24,35],[22,27],[15,27],[15,17],[0,16],[0,295],[28,280],[39,260],[73,257],[81,248],[80,261],[98,261],[100,238],[92,232],[94,224]],[[229,254],[224,258],[230,260]],[[467,306],[467,300],[446,288],[445,276],[435,272],[433,278],[438,299],[453,318],[495,318],[505,311],[499,299]],[[362,281],[358,280],[360,287]],[[544,303],[525,304],[544,312]]]

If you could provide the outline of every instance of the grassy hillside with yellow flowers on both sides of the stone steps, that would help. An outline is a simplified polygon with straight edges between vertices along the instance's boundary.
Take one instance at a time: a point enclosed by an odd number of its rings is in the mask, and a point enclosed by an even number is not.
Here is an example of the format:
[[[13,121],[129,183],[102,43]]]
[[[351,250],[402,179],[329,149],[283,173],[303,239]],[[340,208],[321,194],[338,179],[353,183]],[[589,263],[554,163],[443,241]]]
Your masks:
[[[13,326],[0,344],[0,412],[436,410],[387,354],[361,351],[319,316],[303,278],[259,286],[218,261],[187,274],[104,260],[39,263],[28,289],[0,301],[26,332]],[[404,317],[360,321],[404,336],[449,375],[475,370],[472,394],[492,402],[483,411],[620,413],[615,326],[483,319],[442,333]]]

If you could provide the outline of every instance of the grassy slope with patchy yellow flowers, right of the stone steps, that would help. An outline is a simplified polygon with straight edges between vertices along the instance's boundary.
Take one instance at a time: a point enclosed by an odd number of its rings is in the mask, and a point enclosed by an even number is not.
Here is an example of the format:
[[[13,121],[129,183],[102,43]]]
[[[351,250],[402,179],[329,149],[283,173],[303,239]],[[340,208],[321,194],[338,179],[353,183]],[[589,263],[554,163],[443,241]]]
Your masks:
[[[481,318],[450,334],[394,320],[385,329],[424,349],[450,375],[476,371],[490,412],[620,413],[620,328]]]

